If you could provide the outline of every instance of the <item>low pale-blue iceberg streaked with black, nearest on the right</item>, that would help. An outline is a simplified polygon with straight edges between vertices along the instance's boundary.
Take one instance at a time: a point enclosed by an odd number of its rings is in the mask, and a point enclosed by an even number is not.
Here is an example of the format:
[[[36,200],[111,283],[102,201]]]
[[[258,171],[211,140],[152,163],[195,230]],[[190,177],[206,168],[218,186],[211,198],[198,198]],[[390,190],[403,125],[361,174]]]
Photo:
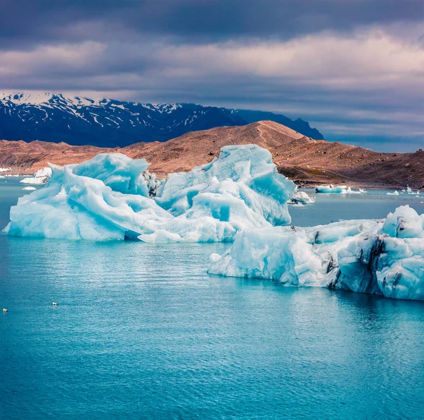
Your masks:
[[[245,230],[208,272],[422,300],[423,222],[403,206],[385,220]]]

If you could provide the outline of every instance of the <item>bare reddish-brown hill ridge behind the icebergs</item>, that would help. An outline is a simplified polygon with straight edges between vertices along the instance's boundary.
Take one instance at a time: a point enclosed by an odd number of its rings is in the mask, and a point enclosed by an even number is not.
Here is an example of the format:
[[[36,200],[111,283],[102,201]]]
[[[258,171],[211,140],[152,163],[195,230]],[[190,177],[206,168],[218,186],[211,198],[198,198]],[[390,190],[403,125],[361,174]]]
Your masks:
[[[254,143],[270,150],[278,170],[298,184],[365,187],[424,187],[424,152],[381,153],[342,143],[312,140],[273,121],[193,131],[165,143],[136,143],[123,149],[71,146],[66,143],[0,141],[0,167],[29,174],[47,162],[77,163],[99,152],[146,157],[160,177],[210,162],[224,145]]]

